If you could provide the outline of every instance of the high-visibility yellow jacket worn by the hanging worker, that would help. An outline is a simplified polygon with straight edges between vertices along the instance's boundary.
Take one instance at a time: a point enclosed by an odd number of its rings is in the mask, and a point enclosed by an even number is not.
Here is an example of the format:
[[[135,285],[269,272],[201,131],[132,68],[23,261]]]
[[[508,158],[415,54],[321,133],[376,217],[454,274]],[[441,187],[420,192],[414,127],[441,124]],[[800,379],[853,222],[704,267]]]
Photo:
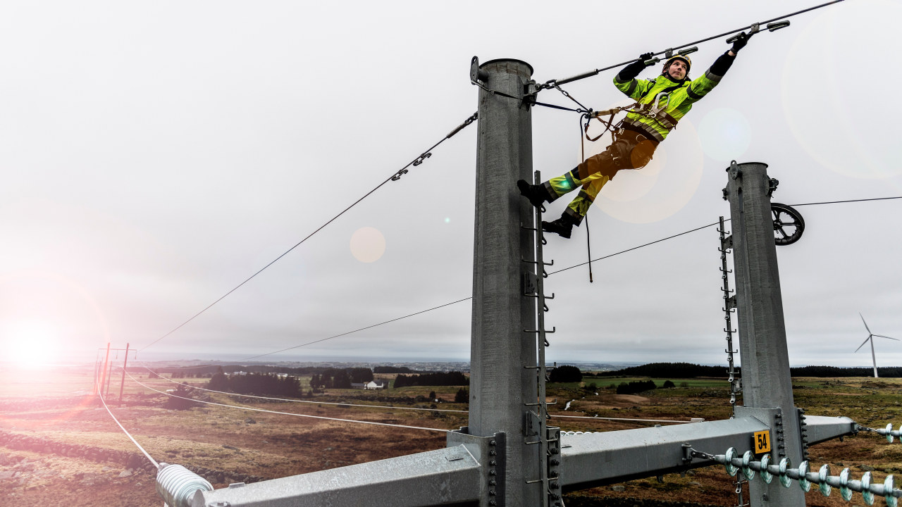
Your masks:
[[[727,57],[730,60],[722,62],[724,57],[726,55],[718,59],[704,75],[691,81],[688,79],[674,81],[666,75],[652,79],[632,78],[621,81],[620,74],[614,76],[614,86],[642,105],[641,114],[630,111],[623,121],[624,125],[649,134],[658,142],[664,141],[676,123],[692,109],[692,105],[721,81],[726,69],[730,68],[729,64],[732,63],[732,57]],[[721,74],[715,74],[713,69],[719,70]],[[656,103],[659,110],[652,117],[650,115],[655,112]]]

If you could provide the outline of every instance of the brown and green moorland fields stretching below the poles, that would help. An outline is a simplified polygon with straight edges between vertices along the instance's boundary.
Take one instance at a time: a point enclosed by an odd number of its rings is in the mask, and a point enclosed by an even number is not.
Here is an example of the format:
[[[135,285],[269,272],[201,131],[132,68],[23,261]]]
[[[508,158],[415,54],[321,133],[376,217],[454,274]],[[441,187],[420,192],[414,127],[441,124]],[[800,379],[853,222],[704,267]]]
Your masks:
[[[178,387],[167,379],[147,378],[148,373],[132,374],[138,382],[161,392]],[[219,475],[211,475],[217,488],[225,487],[230,480],[235,480],[235,476],[275,478],[445,446],[442,432],[400,430],[302,416],[434,429],[457,429],[467,424],[465,413],[407,410],[432,407],[466,410],[465,403],[450,402],[461,386],[384,391],[329,389],[299,401],[266,401],[197,392],[195,395],[200,399],[235,408],[205,404],[189,410],[172,410],[168,405],[169,397],[152,392],[127,377],[124,404],[120,406],[117,401],[121,379],[121,374],[114,374],[107,399],[123,426],[156,459],[219,471]],[[132,442],[124,437],[106,410],[91,396],[92,380],[93,372],[89,369],[0,370],[0,432],[42,438],[49,443],[136,452]],[[729,387],[723,380],[652,379],[659,386],[670,380],[677,387],[631,395],[616,394],[617,384],[640,380],[649,379],[586,377],[583,383],[549,383],[548,401],[557,400],[557,404],[549,406],[553,416],[551,424],[564,430],[611,431],[655,424],[650,420],[635,419],[713,420],[727,419],[732,414]],[[302,380],[305,387],[308,381],[308,377]],[[208,379],[176,379],[176,382],[206,385]],[[882,428],[888,422],[897,427],[902,422],[902,379],[795,378],[793,385],[796,405],[805,408],[808,414],[844,415],[871,428]],[[432,391],[441,401],[428,399]],[[420,401],[416,401],[418,399]],[[564,410],[567,402],[569,409]],[[137,471],[134,475],[119,477],[126,468],[123,463],[69,454],[60,456],[48,450],[50,448],[0,446],[0,456],[23,459],[15,465],[11,465],[12,461],[0,460],[0,477],[10,475],[5,472],[18,474],[12,482],[0,482],[0,505],[158,507],[161,504],[147,473]],[[712,450],[723,452],[725,449]],[[825,442],[811,447],[810,453],[813,468],[824,463],[831,464],[836,470],[849,466],[854,478],[859,478],[865,467],[872,468],[875,480],[880,482],[887,474],[902,473],[902,445],[898,442],[888,444],[885,439],[870,434],[846,438],[844,442]],[[32,471],[29,466],[33,467]],[[38,469],[41,475],[35,473]],[[622,490],[605,486],[569,493],[565,501],[568,506],[575,507],[672,505],[662,502],[732,506],[736,502],[732,478],[723,473],[722,467],[699,469],[685,477],[667,475],[664,483],[651,478],[621,485]],[[807,493],[807,504],[848,505],[838,494],[824,498],[815,491],[816,488]],[[860,500],[861,497],[855,498]]]

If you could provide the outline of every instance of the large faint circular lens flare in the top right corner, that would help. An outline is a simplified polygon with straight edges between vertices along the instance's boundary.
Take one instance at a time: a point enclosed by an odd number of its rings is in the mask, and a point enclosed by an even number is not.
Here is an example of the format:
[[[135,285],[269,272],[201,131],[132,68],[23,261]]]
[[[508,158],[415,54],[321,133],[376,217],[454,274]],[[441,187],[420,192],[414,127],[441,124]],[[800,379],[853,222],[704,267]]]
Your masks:
[[[783,111],[796,141],[819,164],[880,180],[902,175],[892,127],[895,99],[888,91],[902,70],[881,51],[897,46],[902,4],[861,2],[822,11],[799,33],[783,67]]]

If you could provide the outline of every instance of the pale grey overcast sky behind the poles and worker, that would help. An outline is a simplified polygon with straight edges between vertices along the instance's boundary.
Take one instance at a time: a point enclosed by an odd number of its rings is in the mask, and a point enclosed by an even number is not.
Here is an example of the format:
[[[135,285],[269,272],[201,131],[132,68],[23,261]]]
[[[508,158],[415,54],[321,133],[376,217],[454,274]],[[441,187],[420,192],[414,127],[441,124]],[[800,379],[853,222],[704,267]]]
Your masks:
[[[90,361],[111,342],[146,360],[236,359],[468,298],[475,125],[148,347],[473,114],[474,55],[527,61],[544,82],[815,2],[628,5],[5,2],[3,355]],[[847,0],[752,38],[653,164],[603,190],[593,256],[728,217],[732,159],[768,163],[778,202],[902,195],[899,19],[897,0]],[[700,45],[691,76],[725,38]],[[594,109],[622,104],[615,72],[565,88]],[[575,114],[538,107],[532,120],[534,169],[574,167]],[[867,337],[859,312],[902,338],[902,199],[799,211],[804,237],[778,247],[790,362],[870,365],[867,349],[852,354]],[[717,246],[710,227],[594,263],[591,284],[585,266],[552,275],[548,360],[725,364]],[[584,262],[585,227],[550,237],[545,256]],[[267,358],[468,360],[471,311]],[[902,365],[902,343],[876,346],[879,365]]]

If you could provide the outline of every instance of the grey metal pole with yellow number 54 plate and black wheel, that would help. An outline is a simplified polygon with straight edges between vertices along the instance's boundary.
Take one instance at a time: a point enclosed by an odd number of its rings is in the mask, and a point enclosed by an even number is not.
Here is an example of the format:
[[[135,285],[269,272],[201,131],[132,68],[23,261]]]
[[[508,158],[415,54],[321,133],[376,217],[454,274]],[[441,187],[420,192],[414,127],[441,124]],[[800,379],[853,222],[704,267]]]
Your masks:
[[[767,168],[767,164],[759,162],[733,162],[727,170],[729,178],[724,189],[732,216],[742,365],[744,407],[737,407],[736,413],[737,416],[748,413],[759,419],[771,419],[775,462],[787,456],[797,465],[803,459],[804,449],[792,395],[777,246],[770,210],[770,195],[777,189],[778,181],[768,177]],[[752,507],[802,506],[805,505],[805,493],[800,488],[784,488],[778,481],[771,484],[752,481],[750,502]]]

